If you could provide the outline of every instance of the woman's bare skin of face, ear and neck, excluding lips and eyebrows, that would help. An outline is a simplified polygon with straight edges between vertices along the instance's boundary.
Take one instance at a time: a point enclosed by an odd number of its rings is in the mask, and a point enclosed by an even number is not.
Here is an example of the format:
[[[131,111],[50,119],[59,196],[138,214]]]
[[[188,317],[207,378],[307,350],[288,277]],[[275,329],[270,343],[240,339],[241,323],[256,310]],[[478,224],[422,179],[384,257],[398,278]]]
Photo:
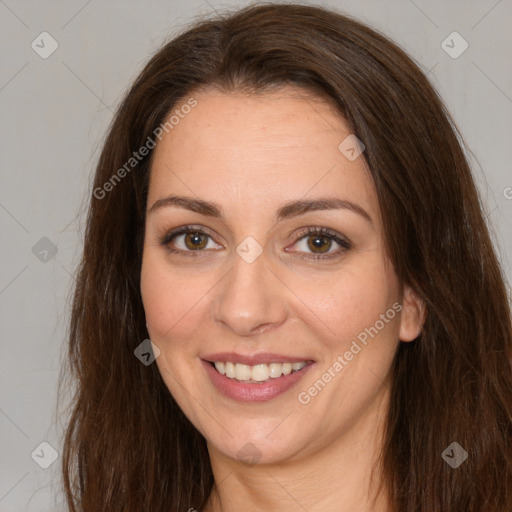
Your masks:
[[[364,153],[346,158],[338,146],[348,125],[300,89],[193,96],[197,106],[153,155],[141,293],[159,371],[207,441],[216,483],[203,510],[391,512],[386,493],[376,493],[389,370],[398,344],[421,329],[424,306],[385,253]],[[215,202],[222,217],[153,208],[170,195]],[[284,203],[321,197],[355,204],[371,220],[339,208],[277,222]],[[190,225],[207,231],[201,249],[186,234],[161,243]],[[306,228],[327,228],[348,248]],[[262,251],[250,263],[236,250],[247,237]],[[212,352],[273,352],[314,365],[292,389],[248,403],[210,383],[201,358]],[[336,371],[339,356],[347,364]],[[319,379],[325,386],[309,392]],[[255,447],[249,462],[247,446]]]

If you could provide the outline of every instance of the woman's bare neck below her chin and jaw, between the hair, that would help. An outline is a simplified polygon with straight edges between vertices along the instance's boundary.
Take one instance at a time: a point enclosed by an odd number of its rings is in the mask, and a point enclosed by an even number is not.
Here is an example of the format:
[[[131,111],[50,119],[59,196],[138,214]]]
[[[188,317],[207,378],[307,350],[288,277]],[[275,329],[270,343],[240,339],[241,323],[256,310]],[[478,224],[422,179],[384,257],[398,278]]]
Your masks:
[[[203,512],[390,512],[378,490],[388,388],[379,401],[335,442],[306,457],[251,466],[208,443],[215,484]]]

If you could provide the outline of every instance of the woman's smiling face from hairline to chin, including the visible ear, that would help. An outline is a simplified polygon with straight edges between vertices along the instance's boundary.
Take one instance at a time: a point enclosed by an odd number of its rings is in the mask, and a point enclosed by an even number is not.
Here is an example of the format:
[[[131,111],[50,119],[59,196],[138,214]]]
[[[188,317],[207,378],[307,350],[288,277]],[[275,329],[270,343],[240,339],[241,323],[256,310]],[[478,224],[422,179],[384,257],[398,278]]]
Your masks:
[[[419,307],[332,106],[291,87],[193,97],[150,175],[141,294],[156,364],[210,453],[310,457],[376,417]]]

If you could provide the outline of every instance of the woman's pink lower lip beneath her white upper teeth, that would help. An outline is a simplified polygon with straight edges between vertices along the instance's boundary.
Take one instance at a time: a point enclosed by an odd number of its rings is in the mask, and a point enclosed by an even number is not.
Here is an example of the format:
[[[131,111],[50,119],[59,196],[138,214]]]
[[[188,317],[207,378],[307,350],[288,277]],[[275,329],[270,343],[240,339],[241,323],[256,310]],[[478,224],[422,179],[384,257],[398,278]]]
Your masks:
[[[310,363],[298,372],[281,375],[264,384],[239,382],[220,374],[208,361],[201,360],[212,384],[225,396],[241,402],[266,402],[288,391],[314,365]]]

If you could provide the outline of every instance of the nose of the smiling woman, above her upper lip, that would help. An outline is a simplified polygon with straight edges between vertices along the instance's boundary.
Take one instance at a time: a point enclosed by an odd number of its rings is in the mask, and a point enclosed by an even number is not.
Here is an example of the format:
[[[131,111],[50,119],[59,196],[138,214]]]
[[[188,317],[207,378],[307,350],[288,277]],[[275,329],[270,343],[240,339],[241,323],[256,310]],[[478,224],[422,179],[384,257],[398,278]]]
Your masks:
[[[286,287],[264,255],[248,263],[235,254],[231,271],[217,288],[212,308],[214,320],[238,336],[254,336],[275,328],[288,314]]]

